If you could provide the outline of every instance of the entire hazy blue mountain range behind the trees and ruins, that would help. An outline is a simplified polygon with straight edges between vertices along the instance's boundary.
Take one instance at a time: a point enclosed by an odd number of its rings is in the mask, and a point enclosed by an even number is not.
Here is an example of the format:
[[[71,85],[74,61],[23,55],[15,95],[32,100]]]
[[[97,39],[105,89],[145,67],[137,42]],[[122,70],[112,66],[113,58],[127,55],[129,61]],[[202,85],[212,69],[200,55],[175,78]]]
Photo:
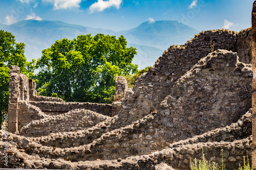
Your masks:
[[[73,39],[81,34],[102,33],[119,37],[123,35],[127,46],[137,48],[137,56],[133,63],[138,64],[139,69],[153,66],[155,61],[170,45],[184,44],[193,38],[199,31],[188,27],[179,21],[155,21],[143,22],[138,27],[125,30],[113,31],[101,28],[84,27],[61,21],[50,20],[23,20],[12,25],[0,23],[0,29],[11,32],[16,42],[26,44],[25,56],[30,61],[32,58],[41,57],[41,51],[61,38]]]

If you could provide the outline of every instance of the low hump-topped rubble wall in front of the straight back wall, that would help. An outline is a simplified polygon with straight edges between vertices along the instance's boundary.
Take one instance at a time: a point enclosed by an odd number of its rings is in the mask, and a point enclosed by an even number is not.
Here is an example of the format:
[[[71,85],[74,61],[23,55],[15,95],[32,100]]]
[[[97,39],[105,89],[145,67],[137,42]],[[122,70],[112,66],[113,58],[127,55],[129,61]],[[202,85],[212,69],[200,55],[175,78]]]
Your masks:
[[[20,135],[37,137],[58,132],[74,132],[93,127],[106,119],[110,117],[91,110],[75,109],[65,114],[30,121],[21,129]]]

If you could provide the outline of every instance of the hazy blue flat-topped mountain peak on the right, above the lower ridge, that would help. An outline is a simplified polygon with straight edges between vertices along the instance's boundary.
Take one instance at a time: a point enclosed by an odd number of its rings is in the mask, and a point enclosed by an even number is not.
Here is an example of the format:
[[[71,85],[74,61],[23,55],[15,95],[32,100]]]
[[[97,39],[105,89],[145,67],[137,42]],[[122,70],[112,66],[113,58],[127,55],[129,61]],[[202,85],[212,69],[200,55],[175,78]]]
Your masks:
[[[139,27],[120,31],[129,43],[154,46],[167,50],[170,45],[184,44],[193,38],[198,31],[178,21],[143,22]]]

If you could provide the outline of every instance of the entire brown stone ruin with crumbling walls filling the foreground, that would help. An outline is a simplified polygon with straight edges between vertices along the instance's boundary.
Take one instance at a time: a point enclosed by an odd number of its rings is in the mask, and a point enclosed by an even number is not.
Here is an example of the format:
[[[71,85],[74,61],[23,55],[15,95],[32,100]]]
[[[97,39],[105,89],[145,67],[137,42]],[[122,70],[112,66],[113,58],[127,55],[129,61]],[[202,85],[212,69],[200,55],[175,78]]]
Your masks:
[[[112,105],[37,96],[11,66],[0,167],[189,169],[203,150],[238,168],[252,153],[251,37],[251,28],[210,30],[172,45],[134,88],[118,77]]]

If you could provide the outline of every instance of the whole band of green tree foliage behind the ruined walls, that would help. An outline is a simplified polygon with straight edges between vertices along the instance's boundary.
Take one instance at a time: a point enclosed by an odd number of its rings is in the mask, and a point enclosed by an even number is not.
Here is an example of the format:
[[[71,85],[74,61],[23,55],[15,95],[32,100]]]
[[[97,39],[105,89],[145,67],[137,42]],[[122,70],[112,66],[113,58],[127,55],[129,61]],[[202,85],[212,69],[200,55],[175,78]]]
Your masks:
[[[111,103],[115,78],[127,76],[133,81],[146,69],[138,71],[132,63],[136,48],[126,47],[123,36],[80,35],[73,40],[57,40],[42,51],[37,61],[27,62],[25,44],[0,31],[0,124],[8,111],[10,66],[37,82],[38,95],[55,96],[76,102]],[[33,72],[39,69],[37,75]],[[135,74],[131,76],[131,74]],[[130,75],[130,76],[129,76]]]

